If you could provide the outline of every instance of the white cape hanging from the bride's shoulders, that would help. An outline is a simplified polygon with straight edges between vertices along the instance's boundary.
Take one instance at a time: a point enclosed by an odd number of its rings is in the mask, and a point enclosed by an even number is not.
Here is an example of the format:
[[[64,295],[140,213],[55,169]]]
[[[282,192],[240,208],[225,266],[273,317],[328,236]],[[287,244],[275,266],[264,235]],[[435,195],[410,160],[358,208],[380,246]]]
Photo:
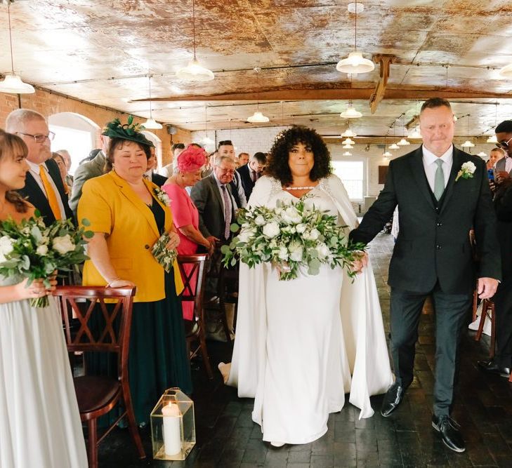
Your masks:
[[[357,217],[341,180],[335,175],[330,175],[320,180],[318,188],[332,199],[348,229],[354,229],[357,226]],[[265,176],[259,179],[254,187],[249,206],[266,205],[270,198],[281,190],[280,182]],[[360,418],[371,417],[374,410],[369,397],[386,392],[393,383],[381,307],[370,262],[354,281],[344,270],[343,276],[339,307],[346,352],[343,360],[348,360],[352,374],[349,401],[360,408]],[[237,338],[226,385],[237,387],[240,397],[254,398],[258,381],[264,378],[267,359],[263,265],[249,269],[247,265],[241,263],[239,283]],[[253,419],[258,405],[261,405],[261,402],[256,401]]]

